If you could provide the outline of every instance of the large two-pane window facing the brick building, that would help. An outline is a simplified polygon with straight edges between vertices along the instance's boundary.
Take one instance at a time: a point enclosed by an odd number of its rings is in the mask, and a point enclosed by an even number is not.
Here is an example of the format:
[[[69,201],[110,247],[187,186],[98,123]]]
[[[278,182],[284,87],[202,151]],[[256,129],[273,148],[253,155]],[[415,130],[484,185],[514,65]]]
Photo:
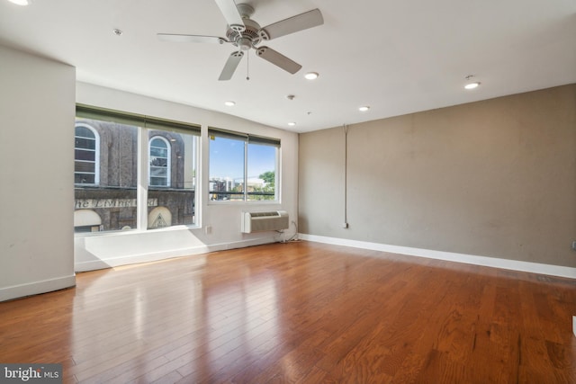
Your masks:
[[[195,224],[199,138],[193,124],[76,105],[76,161],[94,171],[76,166],[75,231]]]

